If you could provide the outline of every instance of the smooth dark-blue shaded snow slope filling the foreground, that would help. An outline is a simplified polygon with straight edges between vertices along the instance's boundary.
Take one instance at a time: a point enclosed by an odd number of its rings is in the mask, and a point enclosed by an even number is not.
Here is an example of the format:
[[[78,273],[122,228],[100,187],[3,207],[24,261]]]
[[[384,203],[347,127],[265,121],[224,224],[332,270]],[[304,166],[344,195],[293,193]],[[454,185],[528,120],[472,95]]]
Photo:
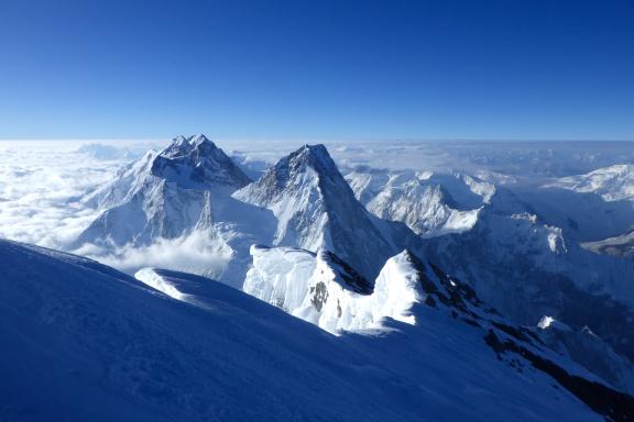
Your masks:
[[[601,420],[445,313],[336,337],[210,280],[200,308],[50,249],[0,262],[4,421]]]

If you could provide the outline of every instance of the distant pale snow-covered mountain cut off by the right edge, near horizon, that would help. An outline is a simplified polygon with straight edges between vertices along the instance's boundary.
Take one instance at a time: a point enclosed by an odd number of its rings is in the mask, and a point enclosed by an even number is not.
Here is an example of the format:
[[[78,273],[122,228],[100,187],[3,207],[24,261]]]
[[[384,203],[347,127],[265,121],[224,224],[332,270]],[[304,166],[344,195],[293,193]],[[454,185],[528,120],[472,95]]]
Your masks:
[[[592,192],[605,201],[634,201],[634,165],[614,165],[584,175],[562,177],[546,187]]]

